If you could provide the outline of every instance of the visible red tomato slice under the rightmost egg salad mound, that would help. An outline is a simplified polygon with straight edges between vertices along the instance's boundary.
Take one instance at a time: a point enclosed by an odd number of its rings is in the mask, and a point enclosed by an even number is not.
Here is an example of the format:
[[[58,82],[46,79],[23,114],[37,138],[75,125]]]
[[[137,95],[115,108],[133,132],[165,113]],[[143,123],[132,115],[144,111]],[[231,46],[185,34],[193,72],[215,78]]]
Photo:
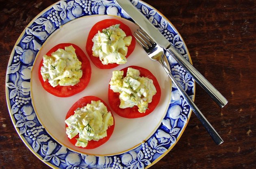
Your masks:
[[[108,101],[109,101],[109,105],[110,107],[114,110],[114,112],[116,112],[116,114],[118,114],[121,117],[125,117],[125,118],[139,118],[139,117],[143,117],[143,116],[147,116],[148,114],[150,114],[157,106],[157,104],[160,101],[160,97],[161,97],[161,88],[158,84],[158,81],[156,80],[156,77],[147,69],[145,68],[141,68],[139,66],[128,66],[127,68],[124,68],[122,70],[124,70],[124,76],[126,75],[127,69],[128,68],[134,68],[139,70],[140,72],[140,76],[142,77],[147,77],[153,80],[154,86],[156,87],[156,94],[153,96],[152,98],[152,102],[148,104],[148,110],[146,110],[145,113],[140,113],[138,111],[138,107],[134,106],[132,108],[119,108],[120,105],[120,99],[119,99],[119,95],[120,93],[115,93],[110,89],[110,85],[108,85]]]

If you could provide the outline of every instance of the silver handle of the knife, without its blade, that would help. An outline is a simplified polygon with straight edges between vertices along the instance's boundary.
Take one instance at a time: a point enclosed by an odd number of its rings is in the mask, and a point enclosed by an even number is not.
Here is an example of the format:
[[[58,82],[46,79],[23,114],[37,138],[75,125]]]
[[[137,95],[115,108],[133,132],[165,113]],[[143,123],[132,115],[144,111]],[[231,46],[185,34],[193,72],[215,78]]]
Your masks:
[[[187,59],[185,59],[175,48],[170,45],[166,51],[171,54],[174,59],[195,79],[195,81],[200,85],[210,97],[223,108],[227,103],[227,99],[213,87],[213,85],[204,78],[200,72],[198,72]]]

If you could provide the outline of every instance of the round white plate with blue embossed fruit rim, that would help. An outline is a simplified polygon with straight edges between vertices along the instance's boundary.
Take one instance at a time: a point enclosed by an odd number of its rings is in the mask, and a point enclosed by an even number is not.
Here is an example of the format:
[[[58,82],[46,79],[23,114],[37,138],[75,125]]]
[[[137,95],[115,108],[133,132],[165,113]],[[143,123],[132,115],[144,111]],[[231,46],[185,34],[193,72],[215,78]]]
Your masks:
[[[145,2],[131,2],[190,60],[178,31],[161,13]],[[138,43],[125,65],[100,70],[91,62],[91,80],[81,93],[60,98],[44,91],[37,74],[43,54],[62,42],[74,43],[85,51],[91,27],[108,18],[121,20],[132,31],[137,29],[113,0],[56,2],[31,21],[11,53],[6,76],[11,119],[31,152],[52,168],[148,168],[178,142],[191,115],[187,102],[176,87],[171,86],[161,65],[150,60]],[[167,57],[175,78],[193,99],[193,79],[170,55]],[[113,135],[98,148],[85,150],[69,143],[64,120],[72,104],[86,95],[100,97],[108,104],[107,88],[112,71],[128,65],[147,68],[156,76],[162,90],[158,107],[150,115],[137,119],[114,114]]]

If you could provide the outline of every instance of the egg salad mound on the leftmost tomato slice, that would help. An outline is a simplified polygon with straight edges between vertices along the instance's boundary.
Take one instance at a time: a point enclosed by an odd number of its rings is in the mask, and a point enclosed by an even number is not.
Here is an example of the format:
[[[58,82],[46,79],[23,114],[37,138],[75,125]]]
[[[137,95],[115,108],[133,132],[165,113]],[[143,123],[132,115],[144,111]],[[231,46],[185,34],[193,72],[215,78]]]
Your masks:
[[[43,66],[41,75],[43,80],[52,87],[76,85],[82,77],[82,66],[78,60],[74,47],[66,46],[64,49],[58,49],[51,56],[43,55]]]

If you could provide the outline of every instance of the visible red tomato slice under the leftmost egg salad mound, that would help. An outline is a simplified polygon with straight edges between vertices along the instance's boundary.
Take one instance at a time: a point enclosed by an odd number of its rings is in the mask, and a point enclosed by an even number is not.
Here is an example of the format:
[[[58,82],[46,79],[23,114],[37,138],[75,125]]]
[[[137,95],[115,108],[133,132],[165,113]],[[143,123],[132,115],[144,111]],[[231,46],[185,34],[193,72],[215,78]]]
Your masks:
[[[83,91],[85,89],[85,87],[87,87],[90,79],[91,79],[91,65],[90,65],[90,61],[87,58],[87,56],[85,55],[85,53],[82,51],[82,49],[78,46],[76,46],[75,44],[72,43],[61,43],[61,44],[57,44],[56,46],[54,46],[50,51],[48,51],[46,53],[46,55],[51,56],[51,54],[55,51],[57,51],[58,49],[65,49],[65,46],[70,46],[72,45],[75,50],[76,50],[76,55],[79,59],[79,61],[82,62],[82,78],[80,78],[80,82],[74,86],[56,86],[56,87],[52,87],[50,85],[50,83],[48,82],[48,80],[43,81],[43,77],[41,75],[41,67],[43,65],[43,59],[39,64],[39,69],[38,69],[38,76],[39,76],[39,80],[43,86],[43,89],[45,89],[47,92],[51,93],[52,95],[55,95],[57,97],[70,97],[72,95],[75,95],[76,93],[79,93],[81,91]]]

